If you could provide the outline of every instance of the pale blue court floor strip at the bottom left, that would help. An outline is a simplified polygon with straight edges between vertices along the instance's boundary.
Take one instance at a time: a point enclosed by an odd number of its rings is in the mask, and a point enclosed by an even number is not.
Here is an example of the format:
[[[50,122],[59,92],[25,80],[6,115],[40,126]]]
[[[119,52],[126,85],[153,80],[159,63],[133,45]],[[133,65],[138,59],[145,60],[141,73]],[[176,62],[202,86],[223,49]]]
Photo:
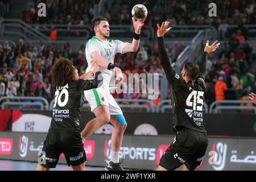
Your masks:
[[[0,171],[35,171],[37,163],[13,161],[13,160],[0,160]],[[89,167],[86,166],[86,171],[105,171],[103,167]],[[65,164],[57,164],[56,168],[52,171],[73,171],[72,167]]]

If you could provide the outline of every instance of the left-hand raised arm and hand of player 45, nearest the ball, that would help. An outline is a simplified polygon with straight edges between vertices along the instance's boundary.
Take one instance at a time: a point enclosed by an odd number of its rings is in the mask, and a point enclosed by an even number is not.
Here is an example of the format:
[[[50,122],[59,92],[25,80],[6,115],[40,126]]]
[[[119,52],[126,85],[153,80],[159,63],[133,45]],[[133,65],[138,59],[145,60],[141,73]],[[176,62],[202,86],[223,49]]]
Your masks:
[[[170,22],[162,23],[161,26],[158,24],[158,51],[159,51],[159,58],[160,63],[164,69],[164,73],[166,73],[166,78],[170,82],[172,80],[172,76],[174,76],[174,69],[171,66],[170,59],[167,55],[166,48],[164,46],[163,36],[166,34],[170,29],[167,28]]]

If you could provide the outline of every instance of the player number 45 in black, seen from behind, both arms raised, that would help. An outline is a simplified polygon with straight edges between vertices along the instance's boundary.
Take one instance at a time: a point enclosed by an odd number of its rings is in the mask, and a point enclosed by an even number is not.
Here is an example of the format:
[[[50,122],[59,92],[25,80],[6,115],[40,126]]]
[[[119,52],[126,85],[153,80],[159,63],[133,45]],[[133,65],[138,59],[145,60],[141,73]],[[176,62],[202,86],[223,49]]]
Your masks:
[[[168,58],[163,36],[170,28],[170,22],[158,24],[158,49],[160,62],[168,82],[172,86],[174,108],[174,142],[164,152],[156,170],[174,170],[185,164],[184,169],[194,170],[205,155],[208,147],[207,131],[203,122],[203,104],[208,53],[218,48],[217,41],[204,49],[203,61],[199,68],[196,63],[185,63],[181,76],[174,71]]]

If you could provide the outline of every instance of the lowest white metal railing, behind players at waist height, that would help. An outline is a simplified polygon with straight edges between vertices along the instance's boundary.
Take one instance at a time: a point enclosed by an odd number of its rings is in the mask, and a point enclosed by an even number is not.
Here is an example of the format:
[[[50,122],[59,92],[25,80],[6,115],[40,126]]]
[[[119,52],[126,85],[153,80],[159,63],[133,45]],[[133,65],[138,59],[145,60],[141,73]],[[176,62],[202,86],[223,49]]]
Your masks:
[[[40,100],[40,102],[35,102]],[[34,102],[33,102],[34,101]],[[171,100],[162,100],[160,101],[158,106],[154,105],[153,100],[146,100],[146,99],[122,99],[117,98],[115,99],[117,104],[121,108],[129,108],[129,109],[146,109],[147,112],[151,113],[164,113],[166,109],[172,109]],[[123,104],[122,102],[126,102],[126,104]],[[133,103],[136,104],[133,104]],[[147,103],[148,105],[141,105]],[[3,109],[3,107],[11,105],[11,106],[23,106],[22,108],[27,109],[29,105],[31,106],[43,106],[43,110],[52,110],[54,105],[54,100],[48,103],[48,101],[43,97],[2,97],[0,98],[0,106]],[[222,105],[219,105],[222,104]],[[223,105],[228,104],[228,105]],[[244,104],[243,105],[237,105],[237,104]],[[251,109],[255,111],[256,114],[256,106],[248,106],[246,104],[253,104],[252,101],[242,101],[242,100],[222,100],[222,101],[214,101],[210,107],[208,107],[207,103],[204,102],[203,109],[204,113],[218,113],[221,109],[226,110],[244,110],[244,109]],[[85,103],[82,105],[82,108],[89,108],[90,105],[88,103]]]

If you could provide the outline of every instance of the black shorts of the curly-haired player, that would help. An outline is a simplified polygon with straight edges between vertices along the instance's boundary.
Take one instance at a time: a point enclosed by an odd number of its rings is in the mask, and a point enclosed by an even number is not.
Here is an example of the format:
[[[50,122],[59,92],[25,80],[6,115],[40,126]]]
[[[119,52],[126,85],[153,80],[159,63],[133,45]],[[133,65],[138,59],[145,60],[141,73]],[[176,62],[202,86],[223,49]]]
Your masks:
[[[79,132],[49,129],[38,163],[46,168],[55,168],[61,153],[65,155],[68,166],[79,166],[86,161]]]

